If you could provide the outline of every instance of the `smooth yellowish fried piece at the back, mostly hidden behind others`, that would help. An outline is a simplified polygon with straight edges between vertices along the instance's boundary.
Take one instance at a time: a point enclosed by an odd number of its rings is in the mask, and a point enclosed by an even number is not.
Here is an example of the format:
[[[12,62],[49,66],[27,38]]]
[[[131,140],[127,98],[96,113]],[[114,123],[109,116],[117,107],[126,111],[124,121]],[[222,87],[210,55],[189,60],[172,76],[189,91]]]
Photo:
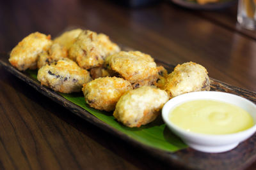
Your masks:
[[[71,31],[66,31],[57,38],[53,40],[53,43],[58,43],[64,46],[67,50],[74,44],[77,36],[82,32],[82,29],[72,29]]]

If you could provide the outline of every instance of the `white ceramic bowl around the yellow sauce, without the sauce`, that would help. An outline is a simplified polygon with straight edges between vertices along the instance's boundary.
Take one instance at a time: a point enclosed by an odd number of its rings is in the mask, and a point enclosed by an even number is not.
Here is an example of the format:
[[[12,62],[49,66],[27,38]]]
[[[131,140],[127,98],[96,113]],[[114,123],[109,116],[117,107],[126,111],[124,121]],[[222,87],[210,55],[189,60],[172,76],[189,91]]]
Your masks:
[[[243,108],[244,110],[248,111],[250,115],[252,115],[254,120],[253,127],[237,133],[214,135],[188,132],[170,122],[170,111],[173,110],[176,106],[179,106],[180,104],[187,101],[200,99],[222,101]],[[251,101],[244,99],[243,97],[225,92],[191,92],[173,97],[170,99],[170,101],[164,104],[162,116],[164,122],[172,132],[177,134],[177,136],[179,136],[191,148],[201,152],[218,153],[232,150],[233,148],[236,148],[239,143],[252,136],[256,131],[256,105]]]

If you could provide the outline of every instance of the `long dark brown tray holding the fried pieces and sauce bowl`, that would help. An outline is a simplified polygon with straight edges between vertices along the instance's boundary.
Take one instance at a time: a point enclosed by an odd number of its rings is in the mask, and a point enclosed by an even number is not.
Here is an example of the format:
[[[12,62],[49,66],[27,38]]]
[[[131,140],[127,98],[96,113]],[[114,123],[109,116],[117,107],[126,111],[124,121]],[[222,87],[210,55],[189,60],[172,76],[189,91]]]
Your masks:
[[[100,127],[104,131],[118,136],[118,138],[124,139],[124,141],[130,145],[143,150],[145,154],[151,154],[157,159],[163,160],[167,164],[187,169],[244,169],[250,166],[250,164],[256,160],[256,134],[241,143],[234,150],[225,153],[202,153],[191,148],[186,148],[184,150],[171,153],[144,145],[143,143],[130,138],[126,134],[117,131],[110,125],[102,122],[88,111],[60,96],[60,94],[48,89],[47,87],[43,87],[40,85],[40,82],[30,78],[26,72],[20,72],[12,67],[8,62],[8,58],[9,56],[7,53],[1,53],[0,66],[4,67],[4,69],[31,85],[31,87],[38,90],[38,92],[49,97],[56,103],[61,104],[61,106],[67,108],[79,117],[84,118],[84,120],[97,125],[97,127]],[[159,60],[156,60],[156,62],[157,64],[164,66],[169,72],[173,70],[174,66],[170,64],[166,64]],[[211,78],[211,90],[236,94],[249,99],[253,103],[256,103],[255,92],[240,89],[238,87],[228,85],[227,83],[214,80],[213,78]]]

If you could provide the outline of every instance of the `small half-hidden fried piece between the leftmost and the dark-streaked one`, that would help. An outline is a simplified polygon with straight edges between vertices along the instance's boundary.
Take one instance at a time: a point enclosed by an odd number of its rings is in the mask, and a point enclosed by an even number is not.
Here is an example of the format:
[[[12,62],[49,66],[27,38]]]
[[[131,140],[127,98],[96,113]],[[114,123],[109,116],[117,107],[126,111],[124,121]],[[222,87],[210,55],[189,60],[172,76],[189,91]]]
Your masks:
[[[51,48],[47,52],[39,54],[37,61],[37,67],[40,69],[46,64],[51,65],[53,62],[57,62],[67,57],[67,49],[58,43],[52,44]]]

